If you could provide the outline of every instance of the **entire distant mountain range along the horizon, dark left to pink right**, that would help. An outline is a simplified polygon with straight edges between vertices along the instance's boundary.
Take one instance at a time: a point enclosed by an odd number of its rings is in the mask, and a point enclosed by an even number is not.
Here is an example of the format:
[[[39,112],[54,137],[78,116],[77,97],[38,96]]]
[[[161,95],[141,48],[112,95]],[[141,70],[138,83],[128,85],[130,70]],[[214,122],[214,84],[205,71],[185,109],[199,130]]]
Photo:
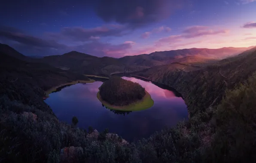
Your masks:
[[[43,62],[55,67],[66,67],[73,72],[88,75],[108,76],[116,72],[135,72],[149,69],[154,66],[170,65],[171,63],[184,63],[188,65],[205,65],[226,57],[238,55],[254,48],[225,47],[218,49],[190,48],[171,51],[155,51],[151,54],[125,56],[121,58],[96,57],[89,54],[70,51],[63,55],[47,57],[26,57],[8,45],[0,44],[0,52],[8,52],[12,57],[20,60]],[[174,66],[174,64],[170,65]]]

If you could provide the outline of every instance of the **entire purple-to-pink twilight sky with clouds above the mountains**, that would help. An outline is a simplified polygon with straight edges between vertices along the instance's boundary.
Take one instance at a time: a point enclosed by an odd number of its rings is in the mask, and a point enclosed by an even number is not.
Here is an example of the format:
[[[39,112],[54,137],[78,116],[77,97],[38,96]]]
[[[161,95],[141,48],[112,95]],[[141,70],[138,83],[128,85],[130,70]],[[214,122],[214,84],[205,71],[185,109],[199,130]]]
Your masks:
[[[24,55],[256,45],[256,0],[7,0],[0,17],[0,43]]]

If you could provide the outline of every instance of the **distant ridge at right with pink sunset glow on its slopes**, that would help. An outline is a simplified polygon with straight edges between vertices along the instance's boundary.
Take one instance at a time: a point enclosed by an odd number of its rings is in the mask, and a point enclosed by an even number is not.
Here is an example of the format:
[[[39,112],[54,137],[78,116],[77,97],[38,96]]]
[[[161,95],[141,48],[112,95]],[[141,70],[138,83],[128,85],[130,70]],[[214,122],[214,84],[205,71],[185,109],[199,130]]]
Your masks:
[[[207,63],[208,60],[219,60],[230,56],[235,56],[241,52],[248,50],[249,48],[190,48],[179,49],[171,51],[155,51],[151,54],[142,54],[135,56],[125,56],[119,58],[119,60],[127,65],[141,65],[141,66],[159,66],[172,62],[179,62],[182,59],[182,63],[200,62]],[[185,57],[185,58],[184,58]]]

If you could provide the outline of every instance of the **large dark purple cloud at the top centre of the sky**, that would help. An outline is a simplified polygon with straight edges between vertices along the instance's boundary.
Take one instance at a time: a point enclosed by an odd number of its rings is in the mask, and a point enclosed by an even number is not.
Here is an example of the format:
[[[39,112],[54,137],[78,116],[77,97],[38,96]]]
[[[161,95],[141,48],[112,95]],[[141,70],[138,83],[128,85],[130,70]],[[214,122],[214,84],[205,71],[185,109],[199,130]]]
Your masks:
[[[98,0],[95,11],[106,22],[140,27],[168,18],[187,0]]]

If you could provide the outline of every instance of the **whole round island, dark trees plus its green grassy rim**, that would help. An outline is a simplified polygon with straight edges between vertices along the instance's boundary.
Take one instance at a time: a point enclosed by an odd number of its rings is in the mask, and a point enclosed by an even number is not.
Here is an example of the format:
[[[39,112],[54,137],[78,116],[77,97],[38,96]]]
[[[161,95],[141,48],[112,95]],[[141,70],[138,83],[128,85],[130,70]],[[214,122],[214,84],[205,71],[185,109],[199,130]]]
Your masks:
[[[99,88],[98,99],[109,109],[123,111],[147,109],[153,100],[145,88],[119,77],[112,77]]]

